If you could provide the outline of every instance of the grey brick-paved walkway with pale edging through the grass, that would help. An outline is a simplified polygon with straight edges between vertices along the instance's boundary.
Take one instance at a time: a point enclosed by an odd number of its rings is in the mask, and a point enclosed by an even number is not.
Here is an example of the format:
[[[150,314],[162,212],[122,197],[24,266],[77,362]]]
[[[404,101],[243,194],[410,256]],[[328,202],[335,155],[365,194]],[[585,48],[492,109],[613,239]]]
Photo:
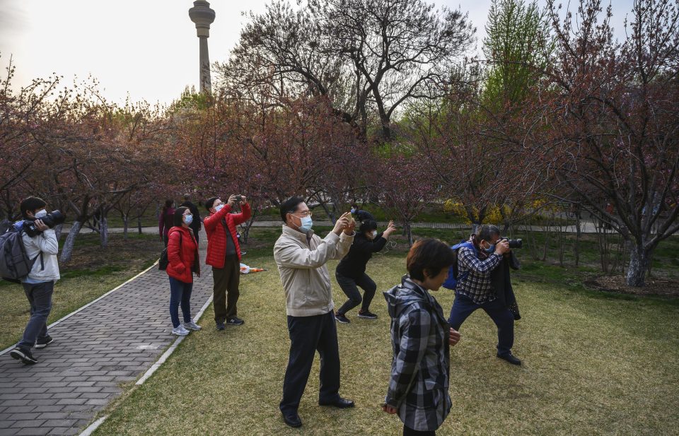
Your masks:
[[[205,240],[203,232],[203,260]],[[194,316],[212,293],[211,269],[202,271]],[[120,395],[121,382],[137,379],[175,341],[169,301],[168,276],[154,266],[50,328],[54,343],[34,350],[36,365],[0,355],[0,435],[79,434]]]

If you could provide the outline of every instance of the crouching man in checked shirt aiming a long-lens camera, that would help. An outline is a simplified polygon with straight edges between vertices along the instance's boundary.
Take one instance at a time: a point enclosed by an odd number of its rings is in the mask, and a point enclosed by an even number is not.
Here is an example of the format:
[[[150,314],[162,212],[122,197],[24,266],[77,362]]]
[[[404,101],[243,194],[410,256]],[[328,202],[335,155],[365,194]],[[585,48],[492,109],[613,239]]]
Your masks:
[[[500,266],[506,253],[509,253],[509,241],[500,238],[496,225],[482,225],[479,232],[472,234],[469,242],[458,249],[455,302],[448,323],[459,330],[470,314],[483,309],[497,325],[497,357],[521,365],[521,360],[511,353],[514,315],[505,300],[497,298],[492,283],[492,271]]]

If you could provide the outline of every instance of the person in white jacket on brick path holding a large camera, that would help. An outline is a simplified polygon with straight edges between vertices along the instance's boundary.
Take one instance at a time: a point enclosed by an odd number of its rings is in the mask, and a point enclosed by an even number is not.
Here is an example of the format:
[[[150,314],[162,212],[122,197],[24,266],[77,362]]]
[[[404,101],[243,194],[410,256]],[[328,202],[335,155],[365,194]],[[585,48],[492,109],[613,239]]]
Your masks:
[[[21,202],[20,207],[24,220],[15,223],[15,227],[21,228],[26,255],[29,259],[35,259],[35,262],[28,276],[21,280],[30,304],[30,318],[23,338],[9,354],[23,363],[33,364],[37,363],[37,359],[30,353],[31,348],[34,345],[35,348],[45,348],[54,341],[47,334],[47,317],[52,310],[54,282],[59,280],[59,243],[54,230],[47,224],[53,227],[54,224],[62,223],[64,216],[55,211],[48,217],[45,210],[47,203],[37,197],[28,197]]]

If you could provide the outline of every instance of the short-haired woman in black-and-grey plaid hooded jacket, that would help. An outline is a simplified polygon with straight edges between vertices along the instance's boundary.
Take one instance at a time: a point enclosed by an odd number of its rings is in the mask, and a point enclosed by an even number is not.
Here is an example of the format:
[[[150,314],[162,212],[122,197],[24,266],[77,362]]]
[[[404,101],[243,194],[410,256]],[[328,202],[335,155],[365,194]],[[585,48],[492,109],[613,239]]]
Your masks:
[[[453,261],[448,244],[419,240],[408,253],[407,275],[384,293],[394,356],[382,409],[398,414],[404,436],[436,435],[451,411],[449,349],[460,334],[448,326],[429,290],[441,288]]]

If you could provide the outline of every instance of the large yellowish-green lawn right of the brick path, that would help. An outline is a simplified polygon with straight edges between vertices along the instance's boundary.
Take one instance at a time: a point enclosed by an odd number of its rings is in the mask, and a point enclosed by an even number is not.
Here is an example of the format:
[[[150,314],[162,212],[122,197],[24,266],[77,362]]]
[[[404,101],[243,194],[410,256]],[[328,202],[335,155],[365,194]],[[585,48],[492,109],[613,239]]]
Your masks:
[[[289,351],[283,290],[271,244],[253,230],[243,261],[268,271],[242,276],[240,327],[216,331],[209,307],[200,324],[149,381],[103,411],[96,435],[400,435],[381,411],[391,363],[389,318],[381,292],[405,273],[405,252],[376,255],[376,321],[338,326],[342,387],[356,408],[318,406],[318,357],[300,406],[301,430],[287,428],[278,403]],[[334,280],[333,295],[345,297]],[[453,411],[440,435],[665,435],[679,425],[679,324],[675,301],[610,297],[559,283],[573,271],[516,276],[523,319],[513,367],[495,357],[497,330],[482,311],[451,350]],[[535,276],[530,276],[534,274]],[[554,281],[542,280],[551,277]],[[434,293],[444,311],[453,293]],[[602,296],[603,295],[603,296]]]

